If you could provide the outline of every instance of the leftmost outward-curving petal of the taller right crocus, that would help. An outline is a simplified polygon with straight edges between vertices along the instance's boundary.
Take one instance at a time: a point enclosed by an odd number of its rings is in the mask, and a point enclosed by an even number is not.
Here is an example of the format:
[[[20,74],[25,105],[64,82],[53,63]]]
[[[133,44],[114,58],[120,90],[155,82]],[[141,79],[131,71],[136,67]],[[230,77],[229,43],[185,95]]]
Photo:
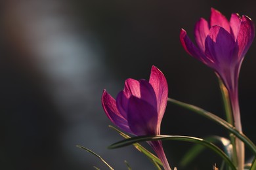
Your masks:
[[[181,29],[180,40],[183,48],[188,52],[188,54],[207,64],[205,55],[193,44],[188,35],[186,35],[186,31],[184,29]]]

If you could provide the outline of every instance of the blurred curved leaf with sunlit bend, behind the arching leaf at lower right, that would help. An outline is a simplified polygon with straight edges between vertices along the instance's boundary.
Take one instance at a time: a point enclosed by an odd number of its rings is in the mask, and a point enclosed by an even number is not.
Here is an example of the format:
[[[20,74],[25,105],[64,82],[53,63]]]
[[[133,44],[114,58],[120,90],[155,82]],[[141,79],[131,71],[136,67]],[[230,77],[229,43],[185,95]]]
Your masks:
[[[205,138],[203,138],[203,140],[208,141],[210,143],[221,142],[221,144],[223,145],[224,152],[226,153],[226,155],[229,158],[232,158],[232,156],[231,156],[232,148],[230,147],[230,141],[228,139],[226,139],[224,137],[219,137],[219,136],[211,136],[211,137],[205,137]],[[190,150],[188,150],[188,152],[186,152],[186,154],[184,154],[184,156],[183,156],[183,158],[181,160],[181,166],[182,167],[186,167],[204,149],[205,149],[205,147],[202,144],[196,144],[196,145],[192,146],[192,148],[190,148]]]

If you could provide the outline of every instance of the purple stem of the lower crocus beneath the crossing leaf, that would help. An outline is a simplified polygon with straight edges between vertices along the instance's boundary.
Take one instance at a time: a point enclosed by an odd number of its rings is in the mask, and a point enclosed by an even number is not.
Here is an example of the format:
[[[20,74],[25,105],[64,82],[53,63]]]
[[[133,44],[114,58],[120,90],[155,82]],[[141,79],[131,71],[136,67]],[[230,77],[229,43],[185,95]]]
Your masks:
[[[165,170],[171,170],[171,167],[170,167],[168,160],[165,156],[165,152],[163,151],[163,145],[161,144],[161,141],[149,141],[148,144],[150,144],[150,146],[152,146],[152,148],[158,155],[158,158],[163,163],[163,168]]]

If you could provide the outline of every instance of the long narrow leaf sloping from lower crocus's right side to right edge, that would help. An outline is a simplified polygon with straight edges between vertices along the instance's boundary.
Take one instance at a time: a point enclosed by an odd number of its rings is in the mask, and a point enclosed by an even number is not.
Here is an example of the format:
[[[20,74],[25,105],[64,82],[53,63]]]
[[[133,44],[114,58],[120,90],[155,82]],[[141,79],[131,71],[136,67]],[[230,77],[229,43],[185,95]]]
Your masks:
[[[211,112],[207,112],[206,110],[203,110],[200,107],[196,107],[194,105],[183,103],[183,102],[177,101],[175,99],[168,98],[168,101],[175,104],[175,105],[183,107],[185,109],[192,110],[193,112],[195,112],[197,114],[200,114],[201,116],[204,116],[205,118],[208,118],[209,120],[212,120],[213,122],[216,122],[217,124],[223,126],[230,133],[233,133],[236,137],[238,137],[238,139],[243,141],[245,143],[245,145],[249,148],[249,150],[251,150],[251,152],[253,152],[253,154],[256,156],[256,146],[255,146],[255,144],[248,137],[246,137],[244,135],[244,133],[240,133],[236,129],[236,127],[232,126],[231,124],[229,124],[228,122],[226,122],[222,118],[216,116],[215,114],[213,114]]]

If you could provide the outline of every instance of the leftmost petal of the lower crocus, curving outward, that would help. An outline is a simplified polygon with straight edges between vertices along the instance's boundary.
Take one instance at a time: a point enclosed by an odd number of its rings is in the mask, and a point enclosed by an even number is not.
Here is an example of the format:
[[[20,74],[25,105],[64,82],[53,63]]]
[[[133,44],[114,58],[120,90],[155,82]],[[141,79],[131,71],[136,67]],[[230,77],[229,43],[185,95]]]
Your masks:
[[[106,90],[102,94],[102,107],[113,124],[127,133],[132,133],[127,120],[117,110],[115,99]]]

